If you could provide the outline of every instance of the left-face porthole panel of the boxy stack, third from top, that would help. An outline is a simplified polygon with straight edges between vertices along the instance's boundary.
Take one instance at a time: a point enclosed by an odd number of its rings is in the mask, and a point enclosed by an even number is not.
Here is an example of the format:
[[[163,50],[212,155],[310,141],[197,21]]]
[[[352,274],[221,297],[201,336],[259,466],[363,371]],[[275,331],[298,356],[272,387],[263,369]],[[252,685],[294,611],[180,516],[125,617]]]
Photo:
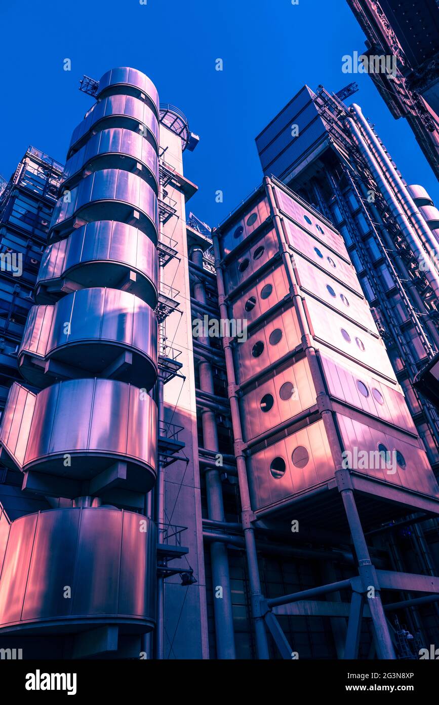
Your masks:
[[[250,324],[284,299],[288,291],[285,268],[278,266],[239,293],[239,298],[231,305],[231,315],[234,319],[246,319]]]

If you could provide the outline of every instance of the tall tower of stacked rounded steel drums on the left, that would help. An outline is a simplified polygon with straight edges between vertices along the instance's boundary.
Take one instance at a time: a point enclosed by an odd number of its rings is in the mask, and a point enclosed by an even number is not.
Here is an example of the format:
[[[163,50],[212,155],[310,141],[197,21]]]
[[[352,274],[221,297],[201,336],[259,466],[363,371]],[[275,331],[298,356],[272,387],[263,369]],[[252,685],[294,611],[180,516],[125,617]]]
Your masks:
[[[0,525],[0,636],[139,656],[155,621],[158,94],[117,68],[73,133],[1,460],[54,507]],[[53,500],[53,498],[57,498]]]

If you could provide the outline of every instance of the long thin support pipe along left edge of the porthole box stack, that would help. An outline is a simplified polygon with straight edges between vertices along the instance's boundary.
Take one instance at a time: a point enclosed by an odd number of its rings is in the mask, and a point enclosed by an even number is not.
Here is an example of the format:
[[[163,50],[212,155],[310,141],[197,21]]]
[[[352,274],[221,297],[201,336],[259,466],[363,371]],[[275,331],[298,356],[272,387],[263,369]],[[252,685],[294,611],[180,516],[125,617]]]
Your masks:
[[[215,232],[212,233],[212,241],[215,252],[215,269],[217,271],[218,300],[220,302],[220,317],[227,319],[227,306],[224,302],[224,276],[220,264],[220,243]],[[244,540],[246,542],[246,558],[248,568],[248,582],[250,584],[251,612],[253,624],[255,626],[257,658],[269,658],[267,632],[265,630],[264,618],[260,613],[260,601],[262,591],[259,576],[259,566],[257,565],[257,551],[255,543],[255,533],[250,524],[251,505],[250,493],[248,491],[248,479],[246,470],[246,459],[242,451],[242,429],[241,417],[239,415],[238,397],[236,396],[236,377],[234,369],[233,353],[231,350],[230,338],[222,338],[224,357],[226,359],[227,380],[229,382],[228,393],[231,410],[231,422],[234,430],[234,454],[236,458],[236,470],[238,472],[239,494],[241,496],[242,524]]]

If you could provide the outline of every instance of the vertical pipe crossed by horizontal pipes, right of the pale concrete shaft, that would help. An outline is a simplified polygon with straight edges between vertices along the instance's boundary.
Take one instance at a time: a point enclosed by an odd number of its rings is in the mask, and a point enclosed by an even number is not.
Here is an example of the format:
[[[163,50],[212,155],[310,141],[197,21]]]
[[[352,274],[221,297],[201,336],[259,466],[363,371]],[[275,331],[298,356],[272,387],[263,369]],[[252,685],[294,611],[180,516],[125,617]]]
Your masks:
[[[191,252],[191,260],[202,267],[203,251],[199,248],[194,248]],[[206,303],[205,283],[203,281],[199,281],[195,284],[194,295],[199,302]],[[201,338],[201,342],[205,345],[210,345],[209,338],[203,337]],[[201,391],[213,394],[213,375],[210,362],[200,362],[198,372],[200,375]],[[201,423],[203,424],[204,447],[207,450],[218,453],[219,445],[215,412],[204,410],[201,413]],[[211,520],[224,522],[224,503],[219,471],[220,468],[215,467],[205,472],[208,517]],[[210,544],[210,558],[212,561],[212,589],[217,658],[233,659],[236,658],[236,653],[227,546],[220,543],[220,541],[212,541],[212,544]]]

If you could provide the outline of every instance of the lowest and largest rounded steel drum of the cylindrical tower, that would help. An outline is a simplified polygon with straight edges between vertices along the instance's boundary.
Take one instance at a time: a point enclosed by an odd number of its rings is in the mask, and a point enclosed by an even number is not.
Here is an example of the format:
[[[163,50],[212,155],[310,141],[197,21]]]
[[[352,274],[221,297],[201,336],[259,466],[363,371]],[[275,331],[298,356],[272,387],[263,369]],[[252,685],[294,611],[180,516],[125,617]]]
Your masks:
[[[155,534],[146,517],[107,507],[15,520],[0,579],[0,633],[67,634],[98,624],[118,625],[122,634],[150,631]]]

